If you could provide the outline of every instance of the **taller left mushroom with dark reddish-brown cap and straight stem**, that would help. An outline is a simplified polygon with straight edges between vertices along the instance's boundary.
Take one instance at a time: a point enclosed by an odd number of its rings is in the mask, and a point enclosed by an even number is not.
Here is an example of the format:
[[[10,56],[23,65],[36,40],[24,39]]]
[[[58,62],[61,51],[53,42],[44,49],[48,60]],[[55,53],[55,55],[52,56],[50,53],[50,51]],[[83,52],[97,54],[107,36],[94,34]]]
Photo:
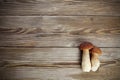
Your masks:
[[[91,48],[93,48],[93,45],[90,42],[83,42],[80,44],[80,50],[83,50],[83,54],[82,54],[83,72],[90,72],[91,70],[91,62],[90,62],[90,54],[89,54],[89,50]]]

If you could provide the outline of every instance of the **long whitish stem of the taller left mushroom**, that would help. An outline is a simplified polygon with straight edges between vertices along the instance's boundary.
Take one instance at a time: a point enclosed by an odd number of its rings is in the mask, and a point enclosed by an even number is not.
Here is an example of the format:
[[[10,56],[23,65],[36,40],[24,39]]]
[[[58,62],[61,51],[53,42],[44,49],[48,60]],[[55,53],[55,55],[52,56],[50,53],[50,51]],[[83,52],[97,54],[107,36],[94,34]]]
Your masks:
[[[83,50],[82,54],[82,70],[83,72],[90,72],[91,63],[90,63],[90,54],[88,49]]]

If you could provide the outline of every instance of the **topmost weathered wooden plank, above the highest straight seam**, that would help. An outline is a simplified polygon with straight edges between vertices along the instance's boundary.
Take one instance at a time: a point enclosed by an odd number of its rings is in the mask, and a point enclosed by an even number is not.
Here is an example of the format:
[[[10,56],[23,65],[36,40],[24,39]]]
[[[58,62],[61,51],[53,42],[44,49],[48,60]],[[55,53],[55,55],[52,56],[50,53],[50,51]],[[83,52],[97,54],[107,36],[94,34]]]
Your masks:
[[[119,0],[2,0],[0,15],[120,16]]]

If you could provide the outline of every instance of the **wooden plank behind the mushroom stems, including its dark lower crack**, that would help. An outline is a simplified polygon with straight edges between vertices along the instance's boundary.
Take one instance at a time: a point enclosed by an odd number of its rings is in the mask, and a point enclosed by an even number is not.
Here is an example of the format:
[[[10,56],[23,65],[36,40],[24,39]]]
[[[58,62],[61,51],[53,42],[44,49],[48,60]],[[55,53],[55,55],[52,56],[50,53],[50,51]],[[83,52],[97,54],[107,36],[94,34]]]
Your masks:
[[[119,48],[101,49],[103,54],[100,61],[103,64],[112,64],[119,60]],[[78,48],[0,48],[0,51],[1,67],[76,67],[81,63]]]

